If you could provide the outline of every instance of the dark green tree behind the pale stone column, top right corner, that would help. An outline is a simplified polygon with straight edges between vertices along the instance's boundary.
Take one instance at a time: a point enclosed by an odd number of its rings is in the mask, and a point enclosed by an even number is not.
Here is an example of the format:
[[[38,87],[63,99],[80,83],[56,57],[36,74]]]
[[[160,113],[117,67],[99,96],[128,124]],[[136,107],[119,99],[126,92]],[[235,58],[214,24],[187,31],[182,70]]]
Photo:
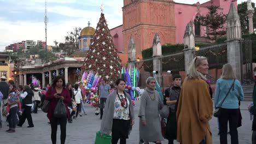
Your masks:
[[[252,7],[255,7],[255,3],[252,2]],[[254,8],[256,11],[256,8]],[[249,33],[248,16],[247,16],[247,2],[242,2],[237,5],[237,12],[240,17],[242,34]],[[256,15],[253,15],[253,27],[256,27]]]

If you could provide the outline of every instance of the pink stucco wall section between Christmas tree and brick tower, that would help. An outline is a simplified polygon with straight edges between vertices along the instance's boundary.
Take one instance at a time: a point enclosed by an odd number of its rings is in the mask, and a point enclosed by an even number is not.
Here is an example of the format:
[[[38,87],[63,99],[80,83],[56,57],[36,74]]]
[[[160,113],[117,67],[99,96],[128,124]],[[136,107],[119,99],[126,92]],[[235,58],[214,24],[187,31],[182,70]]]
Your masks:
[[[117,51],[123,51],[123,25],[110,29],[110,34],[113,37],[113,41]],[[114,38],[115,34],[118,34],[118,38]]]

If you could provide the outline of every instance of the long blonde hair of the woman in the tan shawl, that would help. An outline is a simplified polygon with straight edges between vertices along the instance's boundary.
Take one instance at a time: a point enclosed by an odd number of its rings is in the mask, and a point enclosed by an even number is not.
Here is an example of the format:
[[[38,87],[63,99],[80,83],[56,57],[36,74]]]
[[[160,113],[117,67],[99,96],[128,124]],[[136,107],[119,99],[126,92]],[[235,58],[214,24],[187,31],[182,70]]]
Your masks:
[[[197,71],[197,67],[201,64],[202,61],[207,60],[206,57],[202,56],[197,56],[195,57],[192,62],[190,63],[189,66],[189,71],[188,71],[188,79],[203,79],[206,80],[206,77],[201,74],[199,71]]]

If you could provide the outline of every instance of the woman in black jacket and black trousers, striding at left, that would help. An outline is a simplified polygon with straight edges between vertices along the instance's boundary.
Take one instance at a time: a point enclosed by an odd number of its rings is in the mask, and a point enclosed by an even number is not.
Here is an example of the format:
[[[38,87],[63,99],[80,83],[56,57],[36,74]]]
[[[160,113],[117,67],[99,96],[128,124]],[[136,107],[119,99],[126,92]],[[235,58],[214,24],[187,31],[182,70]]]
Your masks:
[[[24,112],[21,115],[21,118],[19,120],[19,127],[22,127],[22,124],[26,121],[28,122],[28,128],[34,127],[32,116],[31,116],[31,107],[32,107],[32,97],[33,97],[33,91],[31,90],[30,86],[26,85],[24,86],[24,93],[21,94],[22,98],[22,106],[24,107]]]

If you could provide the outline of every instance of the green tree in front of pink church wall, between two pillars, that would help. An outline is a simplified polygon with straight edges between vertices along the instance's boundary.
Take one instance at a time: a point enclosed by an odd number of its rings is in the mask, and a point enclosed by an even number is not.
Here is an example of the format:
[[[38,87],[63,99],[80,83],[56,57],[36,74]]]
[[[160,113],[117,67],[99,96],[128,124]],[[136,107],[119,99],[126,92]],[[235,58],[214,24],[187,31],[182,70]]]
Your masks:
[[[224,24],[226,23],[227,15],[218,13],[219,7],[210,5],[205,16],[198,17],[195,22],[200,22],[201,26],[206,26],[207,39],[216,40],[218,37],[226,34]]]

